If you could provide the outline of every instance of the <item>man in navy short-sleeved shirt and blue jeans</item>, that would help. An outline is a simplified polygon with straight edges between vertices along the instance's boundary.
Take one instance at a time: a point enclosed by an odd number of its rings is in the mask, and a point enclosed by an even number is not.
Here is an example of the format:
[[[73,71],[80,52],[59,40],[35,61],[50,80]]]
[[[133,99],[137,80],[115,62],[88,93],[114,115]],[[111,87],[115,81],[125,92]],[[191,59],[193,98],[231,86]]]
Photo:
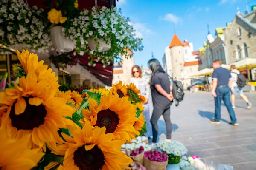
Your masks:
[[[215,119],[210,120],[210,123],[221,123],[221,101],[223,100],[230,114],[230,124],[238,126],[236,115],[230,102],[230,87],[233,82],[230,71],[221,67],[221,60],[215,60],[212,67],[214,68],[212,74],[212,96],[214,96],[215,99]]]

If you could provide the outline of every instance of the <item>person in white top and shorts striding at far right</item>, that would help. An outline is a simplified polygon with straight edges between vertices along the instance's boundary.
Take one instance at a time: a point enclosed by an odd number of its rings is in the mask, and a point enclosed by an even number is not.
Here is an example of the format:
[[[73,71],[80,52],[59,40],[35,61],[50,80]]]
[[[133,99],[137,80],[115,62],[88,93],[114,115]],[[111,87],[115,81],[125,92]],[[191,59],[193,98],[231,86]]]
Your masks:
[[[236,106],[235,106],[235,99],[236,99],[235,95],[236,94],[239,94],[239,96],[242,99],[244,99],[244,102],[247,103],[247,109],[252,108],[252,103],[249,102],[247,96],[245,96],[243,94],[243,89],[238,87],[238,85],[236,84],[237,79],[238,79],[237,77],[238,77],[238,74],[240,74],[240,71],[236,69],[235,65],[231,65],[230,66],[230,70],[231,70],[230,74],[231,74],[231,76],[233,78],[233,82],[231,84],[231,104],[232,104],[233,108],[236,108]]]

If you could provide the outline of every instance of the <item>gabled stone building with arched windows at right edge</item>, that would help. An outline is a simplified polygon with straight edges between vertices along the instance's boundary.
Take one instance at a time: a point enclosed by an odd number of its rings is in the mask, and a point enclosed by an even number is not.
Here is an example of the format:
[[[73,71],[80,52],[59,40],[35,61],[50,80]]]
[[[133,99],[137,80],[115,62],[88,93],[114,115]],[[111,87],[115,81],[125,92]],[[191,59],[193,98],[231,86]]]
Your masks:
[[[228,63],[256,58],[256,9],[246,15],[238,11],[224,37]]]

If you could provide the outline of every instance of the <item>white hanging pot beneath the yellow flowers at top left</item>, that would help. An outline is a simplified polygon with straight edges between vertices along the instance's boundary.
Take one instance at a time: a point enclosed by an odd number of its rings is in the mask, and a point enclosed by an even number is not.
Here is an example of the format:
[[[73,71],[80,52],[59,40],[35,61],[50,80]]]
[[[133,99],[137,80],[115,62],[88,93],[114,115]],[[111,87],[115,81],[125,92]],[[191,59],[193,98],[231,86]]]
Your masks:
[[[67,53],[73,51],[76,42],[67,39],[62,34],[62,26],[54,26],[50,29],[52,45],[56,51],[61,53]]]

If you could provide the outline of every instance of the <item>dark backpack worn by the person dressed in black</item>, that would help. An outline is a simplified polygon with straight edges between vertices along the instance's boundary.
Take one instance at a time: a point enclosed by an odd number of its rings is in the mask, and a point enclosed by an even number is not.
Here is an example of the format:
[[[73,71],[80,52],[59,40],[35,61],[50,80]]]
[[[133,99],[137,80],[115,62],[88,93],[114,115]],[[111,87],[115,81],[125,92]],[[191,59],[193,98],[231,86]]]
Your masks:
[[[176,79],[172,81],[172,94],[175,99],[175,106],[178,106],[185,95],[182,82]]]

